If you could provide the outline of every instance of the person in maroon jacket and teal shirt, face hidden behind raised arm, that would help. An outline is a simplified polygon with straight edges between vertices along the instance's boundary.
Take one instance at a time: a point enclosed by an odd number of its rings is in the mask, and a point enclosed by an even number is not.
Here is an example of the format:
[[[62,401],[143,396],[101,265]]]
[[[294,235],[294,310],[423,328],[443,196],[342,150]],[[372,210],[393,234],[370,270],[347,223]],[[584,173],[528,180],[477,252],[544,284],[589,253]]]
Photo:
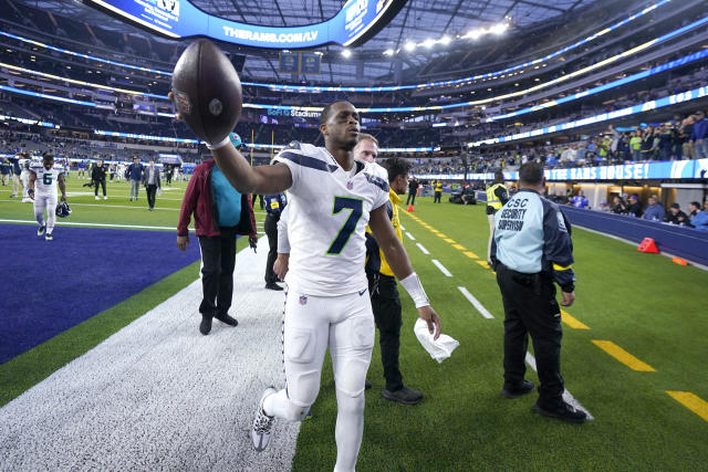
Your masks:
[[[189,244],[187,227],[192,213],[201,248],[204,298],[199,305],[199,332],[206,336],[211,331],[212,318],[230,326],[238,325],[228,314],[233,294],[236,237],[248,235],[249,243],[254,247],[258,235],[251,197],[231,187],[214,159],[195,167],[187,185],[177,225],[177,247],[183,251]]]

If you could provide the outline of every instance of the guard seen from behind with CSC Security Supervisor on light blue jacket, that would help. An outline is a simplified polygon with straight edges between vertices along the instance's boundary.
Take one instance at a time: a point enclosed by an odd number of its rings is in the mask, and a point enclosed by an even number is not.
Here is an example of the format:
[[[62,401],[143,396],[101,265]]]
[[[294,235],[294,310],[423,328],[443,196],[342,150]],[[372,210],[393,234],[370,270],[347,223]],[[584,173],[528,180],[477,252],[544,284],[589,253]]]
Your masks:
[[[539,374],[539,399],[533,410],[569,422],[583,422],[584,411],[563,400],[561,376],[561,308],[575,300],[571,225],[545,190],[543,166],[527,162],[519,169],[519,191],[494,214],[491,259],[504,306],[504,386],[501,394],[517,398],[533,391],[525,380],[529,335]]]

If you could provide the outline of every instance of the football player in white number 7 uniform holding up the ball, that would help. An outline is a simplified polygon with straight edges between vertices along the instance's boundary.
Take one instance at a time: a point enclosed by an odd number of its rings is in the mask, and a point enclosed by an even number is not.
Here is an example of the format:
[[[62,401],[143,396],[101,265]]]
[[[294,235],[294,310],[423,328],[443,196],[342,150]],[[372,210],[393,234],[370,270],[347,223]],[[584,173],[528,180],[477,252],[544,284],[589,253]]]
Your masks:
[[[287,387],[267,389],[251,438],[262,451],[274,418],[302,420],[320,390],[324,353],[332,355],[337,398],[335,471],[353,471],[364,429],[364,381],[374,346],[374,316],[364,273],[366,224],[393,272],[412,295],[430,333],[440,318],[430,306],[386,213],[386,172],[355,161],[360,115],[348,102],[322,112],[325,147],[292,143],[271,166],[251,168],[228,136],[209,146],[219,168],[241,193],[289,190],[291,245],[283,317]]]

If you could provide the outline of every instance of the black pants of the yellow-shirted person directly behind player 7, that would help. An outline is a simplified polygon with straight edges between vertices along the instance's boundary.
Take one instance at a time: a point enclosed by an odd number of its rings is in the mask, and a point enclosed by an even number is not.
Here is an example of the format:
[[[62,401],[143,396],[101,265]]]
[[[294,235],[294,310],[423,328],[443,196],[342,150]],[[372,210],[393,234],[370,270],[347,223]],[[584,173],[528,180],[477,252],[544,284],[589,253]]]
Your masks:
[[[369,277],[369,287],[372,286]],[[400,350],[400,297],[396,279],[377,274],[378,284],[372,291],[372,308],[374,321],[378,328],[378,342],[381,345],[381,361],[384,365],[384,378],[386,390],[396,391],[403,388],[403,376],[398,368],[398,353]]]

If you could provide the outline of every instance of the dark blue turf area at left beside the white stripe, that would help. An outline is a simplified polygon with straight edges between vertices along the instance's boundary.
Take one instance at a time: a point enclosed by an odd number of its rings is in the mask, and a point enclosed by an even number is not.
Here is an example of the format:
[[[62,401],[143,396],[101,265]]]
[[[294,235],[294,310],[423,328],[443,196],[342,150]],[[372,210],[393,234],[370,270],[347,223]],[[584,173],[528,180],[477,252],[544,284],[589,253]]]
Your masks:
[[[0,224],[0,364],[123,302],[199,260],[175,233],[58,227],[54,241],[37,228]]]

